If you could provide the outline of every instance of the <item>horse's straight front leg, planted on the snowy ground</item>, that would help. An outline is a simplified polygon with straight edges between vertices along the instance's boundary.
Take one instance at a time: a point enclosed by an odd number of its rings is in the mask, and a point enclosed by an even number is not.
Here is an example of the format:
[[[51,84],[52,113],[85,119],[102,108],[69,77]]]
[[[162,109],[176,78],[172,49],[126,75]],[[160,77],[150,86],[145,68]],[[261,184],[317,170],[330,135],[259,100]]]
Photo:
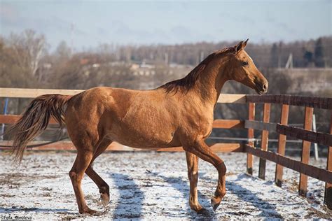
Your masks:
[[[187,166],[188,166],[188,178],[190,183],[190,194],[189,194],[189,206],[191,209],[196,211],[198,214],[208,215],[208,211],[200,206],[198,202],[198,157],[191,152],[186,152]]]

